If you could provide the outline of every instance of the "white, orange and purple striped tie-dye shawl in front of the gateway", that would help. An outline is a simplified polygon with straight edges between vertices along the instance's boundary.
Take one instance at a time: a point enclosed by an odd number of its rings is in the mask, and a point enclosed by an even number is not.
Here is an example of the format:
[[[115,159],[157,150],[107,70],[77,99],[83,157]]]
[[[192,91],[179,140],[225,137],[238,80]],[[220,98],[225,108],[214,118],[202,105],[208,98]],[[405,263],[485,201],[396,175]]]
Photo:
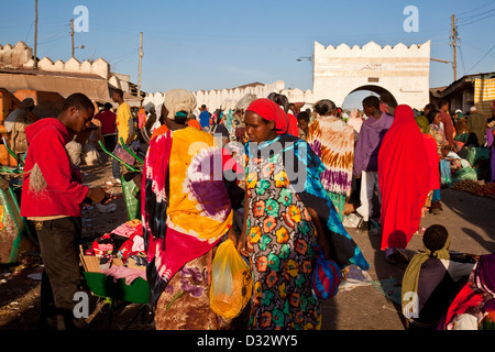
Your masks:
[[[320,117],[309,125],[306,141],[326,167],[321,174],[324,189],[345,196],[351,189],[354,162],[352,127],[336,117]]]

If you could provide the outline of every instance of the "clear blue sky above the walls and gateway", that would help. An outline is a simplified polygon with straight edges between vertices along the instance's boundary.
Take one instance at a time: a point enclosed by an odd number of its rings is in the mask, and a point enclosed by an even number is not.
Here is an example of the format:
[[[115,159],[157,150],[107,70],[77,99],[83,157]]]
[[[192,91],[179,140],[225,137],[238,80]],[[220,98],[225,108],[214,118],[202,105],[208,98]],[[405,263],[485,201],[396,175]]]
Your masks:
[[[0,44],[34,46],[34,0],[4,1]],[[210,90],[277,79],[311,87],[314,42],[324,46],[406,45],[431,41],[431,57],[452,61],[451,15],[461,46],[458,78],[495,72],[495,1],[490,0],[38,0],[38,57],[70,58],[69,21],[88,9],[88,32],[75,35],[79,61],[102,57],[138,82],[143,32],[142,90]],[[418,9],[418,31],[406,32],[407,6]],[[450,85],[450,64],[431,62],[430,87]]]

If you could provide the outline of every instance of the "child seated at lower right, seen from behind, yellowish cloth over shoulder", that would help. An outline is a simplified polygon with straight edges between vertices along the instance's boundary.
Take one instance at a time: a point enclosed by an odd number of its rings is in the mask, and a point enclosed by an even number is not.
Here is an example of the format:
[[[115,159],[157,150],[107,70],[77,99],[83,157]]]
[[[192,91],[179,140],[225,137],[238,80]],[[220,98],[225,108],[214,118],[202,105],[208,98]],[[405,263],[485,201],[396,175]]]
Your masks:
[[[451,258],[450,234],[441,224],[429,227],[422,241],[425,252],[411,258],[403,277],[403,314],[409,328],[436,329],[474,263]]]

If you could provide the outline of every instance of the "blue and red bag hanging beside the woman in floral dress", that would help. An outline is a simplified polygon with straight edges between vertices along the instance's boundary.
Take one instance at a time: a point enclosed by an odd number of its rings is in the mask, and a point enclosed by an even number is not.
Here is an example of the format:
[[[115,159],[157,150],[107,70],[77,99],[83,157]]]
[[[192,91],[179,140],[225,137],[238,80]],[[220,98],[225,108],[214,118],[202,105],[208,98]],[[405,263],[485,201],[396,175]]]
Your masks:
[[[312,292],[319,299],[329,299],[337,295],[341,280],[340,268],[336,262],[324,258],[323,251],[318,246],[315,250],[315,267],[312,271]]]

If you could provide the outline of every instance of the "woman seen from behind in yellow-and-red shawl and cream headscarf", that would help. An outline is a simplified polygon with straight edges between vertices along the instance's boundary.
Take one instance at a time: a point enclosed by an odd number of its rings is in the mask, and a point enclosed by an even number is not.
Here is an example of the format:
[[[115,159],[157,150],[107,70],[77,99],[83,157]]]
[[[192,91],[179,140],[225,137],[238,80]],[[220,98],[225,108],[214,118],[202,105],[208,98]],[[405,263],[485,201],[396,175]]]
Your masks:
[[[144,163],[142,223],[157,330],[216,330],[230,323],[210,308],[209,264],[226,234],[237,241],[231,201],[221,147],[209,133],[187,125],[195,107],[187,90],[166,94],[167,130],[150,141]]]

